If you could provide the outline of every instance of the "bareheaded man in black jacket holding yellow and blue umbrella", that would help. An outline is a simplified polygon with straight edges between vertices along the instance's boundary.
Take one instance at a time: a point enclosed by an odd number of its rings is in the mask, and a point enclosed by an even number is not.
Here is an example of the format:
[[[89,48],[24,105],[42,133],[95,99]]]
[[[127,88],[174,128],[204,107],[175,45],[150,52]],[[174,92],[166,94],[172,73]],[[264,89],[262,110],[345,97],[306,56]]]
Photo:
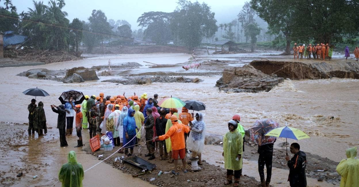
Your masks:
[[[307,158],[306,153],[300,151],[298,143],[290,145],[290,153],[294,154],[293,158],[289,160],[289,156],[285,156],[285,160],[288,161],[289,176],[288,181],[291,187],[306,187],[306,165]]]

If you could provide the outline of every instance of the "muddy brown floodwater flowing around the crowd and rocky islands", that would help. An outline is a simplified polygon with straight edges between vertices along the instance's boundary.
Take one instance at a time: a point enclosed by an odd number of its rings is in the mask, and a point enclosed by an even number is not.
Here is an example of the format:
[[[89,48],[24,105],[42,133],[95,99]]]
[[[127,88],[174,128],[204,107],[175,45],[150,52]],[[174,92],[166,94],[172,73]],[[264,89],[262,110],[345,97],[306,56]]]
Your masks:
[[[167,56],[167,57],[163,57]],[[172,57],[168,57],[172,56]],[[95,57],[94,60],[79,60],[56,62],[41,66],[23,66],[23,67],[5,67],[0,69],[0,94],[4,98],[3,107],[1,107],[0,121],[24,123],[27,120],[27,105],[33,98],[24,95],[22,92],[28,88],[38,87],[46,90],[50,96],[37,97],[38,101],[42,101],[45,105],[45,113],[47,118],[49,135],[31,141],[25,149],[29,152],[46,151],[49,153],[66,154],[70,150],[80,153],[78,148],[73,148],[77,144],[76,137],[73,135],[68,138],[69,147],[60,148],[59,142],[52,141],[52,137],[59,139],[56,129],[57,114],[51,111],[51,104],[59,105],[58,100],[60,94],[69,89],[81,90],[87,95],[98,95],[104,92],[105,95],[118,95],[126,92],[126,95],[132,95],[136,92],[141,95],[144,92],[149,96],[157,93],[162,97],[179,97],[182,100],[195,99],[206,104],[205,122],[207,132],[224,135],[228,131],[227,121],[237,113],[241,116],[241,124],[245,128],[249,128],[256,120],[264,118],[272,118],[279,122],[281,126],[286,123],[288,126],[299,128],[306,132],[310,139],[297,141],[301,145],[301,149],[305,152],[317,154],[327,157],[331,160],[339,162],[345,158],[345,150],[347,148],[359,145],[359,136],[357,126],[359,120],[359,80],[355,79],[321,79],[321,80],[285,80],[283,83],[275,87],[270,92],[261,93],[224,93],[214,87],[219,76],[200,77],[204,79],[202,83],[153,83],[151,85],[116,85],[115,83],[105,83],[101,81],[86,81],[85,83],[64,84],[57,81],[28,79],[27,77],[16,76],[16,74],[34,68],[47,69],[69,69],[77,66],[91,67],[94,65],[107,65],[109,58],[112,64],[122,62],[138,62],[145,65],[143,61],[155,62],[157,64],[177,64],[188,61],[190,55],[187,54],[131,54],[131,55],[109,55],[103,57]],[[134,72],[154,71],[147,66],[133,69]],[[176,71],[184,72],[180,69],[162,68],[160,71]],[[210,75],[210,74],[209,74]],[[100,77],[101,80],[105,79]],[[106,78],[107,79],[107,78]],[[331,117],[333,117],[331,119]],[[83,131],[83,134],[88,131]],[[25,133],[26,135],[26,133]],[[87,142],[88,135],[84,137]],[[283,142],[285,139],[279,138],[277,142]],[[296,142],[289,140],[289,143]],[[214,149],[206,146],[206,151],[213,152]],[[10,151],[11,152],[11,151]],[[37,162],[38,158],[35,154],[14,152],[18,157],[28,158],[28,162]],[[21,156],[22,155],[22,156]],[[209,154],[204,154],[203,159],[210,160]],[[66,163],[66,155],[46,155],[39,156],[44,159],[44,164],[40,171],[38,179],[22,179],[21,181],[38,186],[41,183],[56,182],[57,172],[63,163]],[[4,159],[1,159],[4,161]],[[17,160],[16,160],[17,161]],[[78,161],[87,169],[98,162],[96,158],[88,154],[78,154]],[[6,160],[5,160],[6,162]],[[11,161],[11,159],[9,160]],[[20,162],[26,162],[20,160]],[[248,162],[248,164],[247,164]],[[252,165],[251,165],[252,164]],[[252,161],[246,161],[248,166],[255,167]],[[250,170],[250,167],[244,166]],[[256,168],[256,167],[255,167]],[[1,167],[1,170],[6,167]],[[254,169],[253,177],[256,177],[256,169]],[[110,174],[108,174],[110,173]],[[115,175],[114,175],[115,173]],[[251,172],[248,172],[251,173]],[[278,172],[280,173],[280,172]],[[33,175],[37,173],[31,173]],[[248,174],[250,175],[250,174]],[[258,177],[258,176],[257,176]],[[274,174],[272,178],[281,180],[281,175]],[[41,181],[41,182],[36,182]],[[107,184],[119,184],[120,182],[129,182],[131,184],[148,185],[148,183],[140,179],[133,179],[127,174],[123,174],[120,170],[116,170],[111,166],[101,163],[94,169],[85,173],[84,184],[93,185],[105,182]],[[285,182],[285,181],[283,181]],[[85,185],[85,186],[88,186]],[[96,185],[96,186],[99,186]],[[319,185],[321,184],[314,184]],[[57,183],[56,186],[59,186]]]

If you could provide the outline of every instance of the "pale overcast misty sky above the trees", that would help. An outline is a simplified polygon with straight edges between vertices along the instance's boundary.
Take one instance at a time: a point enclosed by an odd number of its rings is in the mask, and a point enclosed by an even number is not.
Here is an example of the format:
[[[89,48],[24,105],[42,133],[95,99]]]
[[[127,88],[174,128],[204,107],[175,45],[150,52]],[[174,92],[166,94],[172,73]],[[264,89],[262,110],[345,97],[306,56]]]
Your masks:
[[[17,7],[18,13],[28,11],[28,7],[33,9],[32,0],[12,0],[12,2]],[[205,0],[199,2],[205,2],[211,6],[212,12],[215,12],[218,25],[220,23],[229,23],[237,18],[237,14],[246,0]],[[66,5],[62,10],[69,14],[67,19],[70,22],[74,18],[88,21],[92,10],[96,9],[102,10],[107,19],[126,20],[131,24],[132,30],[140,28],[137,27],[137,18],[144,12],[172,12],[177,6],[177,0],[65,0],[65,3]],[[48,5],[48,0],[44,0],[44,4]],[[0,2],[0,6],[3,6],[3,1]]]

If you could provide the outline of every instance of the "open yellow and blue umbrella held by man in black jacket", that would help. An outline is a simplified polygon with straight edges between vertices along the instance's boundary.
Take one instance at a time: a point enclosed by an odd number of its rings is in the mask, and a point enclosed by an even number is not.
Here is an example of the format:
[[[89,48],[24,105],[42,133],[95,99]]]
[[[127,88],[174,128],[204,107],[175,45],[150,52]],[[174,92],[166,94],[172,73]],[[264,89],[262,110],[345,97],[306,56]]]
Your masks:
[[[267,132],[265,134],[265,136],[275,136],[275,137],[285,138],[285,147],[287,149],[287,155],[288,155],[287,138],[294,139],[294,140],[302,140],[305,138],[310,138],[303,131],[301,131],[297,128],[288,127],[288,126],[274,128],[271,131]]]

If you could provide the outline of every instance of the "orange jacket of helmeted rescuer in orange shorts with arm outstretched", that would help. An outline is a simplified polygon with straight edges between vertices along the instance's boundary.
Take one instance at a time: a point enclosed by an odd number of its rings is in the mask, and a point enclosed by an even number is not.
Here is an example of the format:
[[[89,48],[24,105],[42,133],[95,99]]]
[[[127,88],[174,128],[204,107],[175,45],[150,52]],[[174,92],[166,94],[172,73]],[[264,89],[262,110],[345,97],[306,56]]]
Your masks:
[[[172,150],[185,149],[185,134],[190,131],[190,127],[183,125],[182,123],[172,121],[172,127],[170,127],[166,134],[159,136],[158,139],[163,141],[171,137]]]

